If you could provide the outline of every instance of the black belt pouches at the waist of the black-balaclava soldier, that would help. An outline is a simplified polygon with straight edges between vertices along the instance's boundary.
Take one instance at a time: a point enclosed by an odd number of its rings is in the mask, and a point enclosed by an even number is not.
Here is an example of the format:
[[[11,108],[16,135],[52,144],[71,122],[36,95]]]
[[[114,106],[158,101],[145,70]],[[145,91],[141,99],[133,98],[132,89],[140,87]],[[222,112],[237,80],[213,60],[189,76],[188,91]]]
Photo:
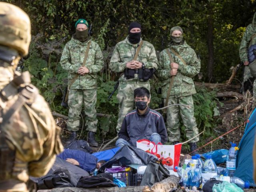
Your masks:
[[[155,71],[156,70],[154,68],[152,68],[152,69],[129,69],[129,68],[126,68],[124,71],[124,76],[126,79],[133,79],[135,74],[138,74],[139,80],[147,81],[153,77]]]

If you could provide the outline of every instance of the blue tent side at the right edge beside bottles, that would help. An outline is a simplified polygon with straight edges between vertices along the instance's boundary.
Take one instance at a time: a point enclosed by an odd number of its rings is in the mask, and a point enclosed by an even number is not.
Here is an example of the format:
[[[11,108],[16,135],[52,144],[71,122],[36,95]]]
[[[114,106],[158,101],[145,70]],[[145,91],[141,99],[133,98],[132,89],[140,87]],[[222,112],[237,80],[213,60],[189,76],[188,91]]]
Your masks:
[[[253,158],[252,151],[254,146],[256,130],[256,109],[252,112],[249,122],[246,124],[244,135],[239,143],[239,150],[236,156],[236,171],[234,176],[243,181],[249,181],[250,186],[256,186],[253,180]]]

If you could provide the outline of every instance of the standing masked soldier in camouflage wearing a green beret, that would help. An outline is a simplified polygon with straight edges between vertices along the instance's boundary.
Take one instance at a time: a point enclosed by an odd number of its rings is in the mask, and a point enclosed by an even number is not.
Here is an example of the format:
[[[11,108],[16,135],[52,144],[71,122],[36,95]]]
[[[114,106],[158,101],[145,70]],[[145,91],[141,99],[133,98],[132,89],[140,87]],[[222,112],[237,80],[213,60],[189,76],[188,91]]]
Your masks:
[[[71,131],[70,140],[76,138],[79,129],[80,114],[84,104],[85,126],[88,130],[88,143],[98,146],[95,140],[97,130],[96,101],[97,101],[97,73],[103,67],[103,55],[100,46],[90,40],[88,36],[88,22],[79,19],[76,24],[76,33],[65,45],[60,59],[62,68],[68,72],[68,84],[79,74],[78,78],[70,87],[68,95],[68,122],[67,128]],[[85,66],[82,66],[88,43],[91,42],[90,50]]]

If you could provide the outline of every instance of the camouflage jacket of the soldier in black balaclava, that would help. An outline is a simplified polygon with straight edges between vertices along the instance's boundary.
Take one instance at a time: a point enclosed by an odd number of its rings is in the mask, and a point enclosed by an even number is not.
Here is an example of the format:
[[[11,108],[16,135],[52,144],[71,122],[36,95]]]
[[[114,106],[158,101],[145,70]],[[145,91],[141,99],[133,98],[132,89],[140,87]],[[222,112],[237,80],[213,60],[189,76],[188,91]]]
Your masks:
[[[141,40],[142,39],[140,39],[140,41]],[[125,40],[116,44],[109,64],[110,69],[114,72],[123,73],[126,69],[126,63],[133,60],[139,44],[140,42],[138,42],[138,44],[131,44],[128,41],[128,37],[126,37]],[[158,69],[156,50],[151,43],[143,41],[137,61],[144,63],[145,68],[155,68],[156,70]],[[121,75],[119,81],[120,83],[128,84],[147,83],[139,80],[137,74],[135,74],[133,79],[126,79],[124,75]]]

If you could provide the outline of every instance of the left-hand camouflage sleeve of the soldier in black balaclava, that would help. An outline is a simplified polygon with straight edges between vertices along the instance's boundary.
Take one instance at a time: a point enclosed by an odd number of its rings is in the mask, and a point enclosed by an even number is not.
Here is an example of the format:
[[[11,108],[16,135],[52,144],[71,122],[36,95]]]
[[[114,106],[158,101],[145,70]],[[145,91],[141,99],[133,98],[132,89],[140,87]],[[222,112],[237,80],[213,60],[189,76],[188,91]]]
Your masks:
[[[110,70],[114,72],[123,72],[126,68],[126,62],[122,62],[118,50],[118,45],[116,45],[112,57],[109,63]]]

